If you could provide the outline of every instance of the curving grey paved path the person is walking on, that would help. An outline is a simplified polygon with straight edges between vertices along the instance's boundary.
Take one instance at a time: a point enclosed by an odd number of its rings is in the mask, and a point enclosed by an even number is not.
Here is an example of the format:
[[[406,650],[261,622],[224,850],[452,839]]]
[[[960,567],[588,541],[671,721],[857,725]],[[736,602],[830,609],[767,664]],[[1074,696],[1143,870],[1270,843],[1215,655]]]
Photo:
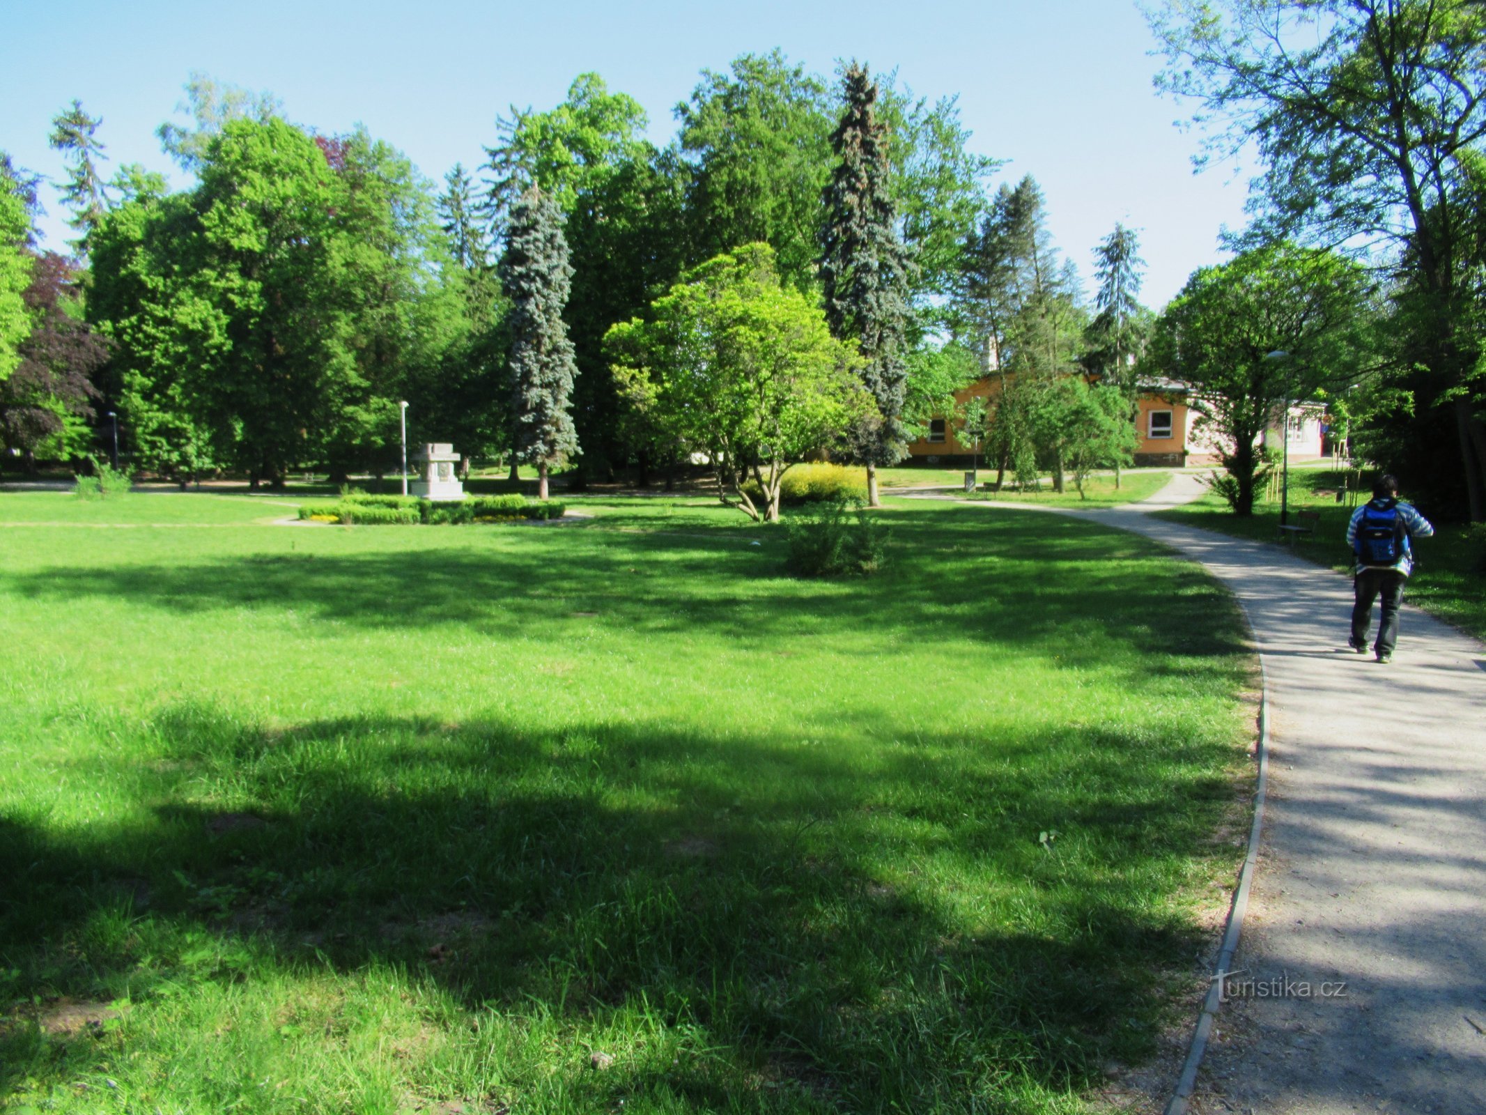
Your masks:
[[[1190,1109],[1486,1115],[1486,647],[1406,608],[1391,665],[1351,653],[1345,577],[1144,514],[1201,491],[1178,474],[1144,504],[1074,511],[1202,562],[1268,675],[1242,974]]]

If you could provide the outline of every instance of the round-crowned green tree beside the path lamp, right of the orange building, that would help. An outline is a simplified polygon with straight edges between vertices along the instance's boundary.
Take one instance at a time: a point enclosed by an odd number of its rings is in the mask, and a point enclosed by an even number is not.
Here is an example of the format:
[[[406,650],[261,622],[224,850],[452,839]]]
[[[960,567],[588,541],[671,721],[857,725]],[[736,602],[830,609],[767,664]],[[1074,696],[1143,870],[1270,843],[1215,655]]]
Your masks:
[[[1259,437],[1290,404],[1358,381],[1367,326],[1363,271],[1287,244],[1193,272],[1156,320],[1149,369],[1192,387],[1196,433],[1221,456],[1217,491],[1236,514],[1254,510]]]

